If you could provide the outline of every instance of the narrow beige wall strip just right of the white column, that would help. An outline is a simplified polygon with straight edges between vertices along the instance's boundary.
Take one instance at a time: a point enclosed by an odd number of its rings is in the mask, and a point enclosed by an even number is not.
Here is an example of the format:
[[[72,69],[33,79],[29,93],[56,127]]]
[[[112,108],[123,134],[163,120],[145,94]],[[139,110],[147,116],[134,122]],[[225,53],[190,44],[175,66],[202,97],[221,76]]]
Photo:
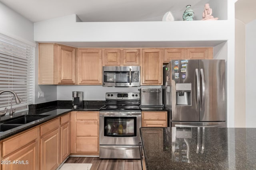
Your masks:
[[[245,24],[236,20],[235,27],[235,127],[246,127],[245,125],[245,82],[246,82],[246,44]]]

